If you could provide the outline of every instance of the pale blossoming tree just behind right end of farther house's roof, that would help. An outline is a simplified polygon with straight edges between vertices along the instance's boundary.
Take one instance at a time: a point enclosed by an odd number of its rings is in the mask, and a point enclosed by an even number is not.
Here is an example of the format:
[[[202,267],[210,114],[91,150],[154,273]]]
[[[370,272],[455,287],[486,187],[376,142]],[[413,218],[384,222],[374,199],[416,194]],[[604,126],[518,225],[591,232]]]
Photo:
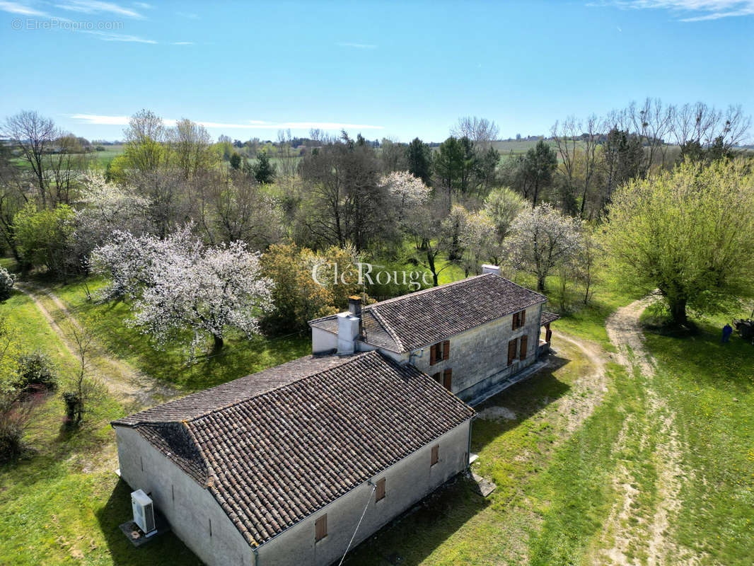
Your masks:
[[[579,231],[578,220],[563,216],[551,205],[523,211],[510,226],[507,261],[513,269],[536,275],[537,291],[544,291],[552,269],[578,252]]]

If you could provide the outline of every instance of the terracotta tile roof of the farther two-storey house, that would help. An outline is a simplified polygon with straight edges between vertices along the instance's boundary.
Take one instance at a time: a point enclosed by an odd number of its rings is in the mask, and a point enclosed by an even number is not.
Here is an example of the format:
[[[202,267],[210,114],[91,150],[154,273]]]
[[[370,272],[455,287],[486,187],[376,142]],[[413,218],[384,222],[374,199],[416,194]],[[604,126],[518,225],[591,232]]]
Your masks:
[[[547,301],[547,297],[486,273],[363,307],[363,323],[376,321],[366,343],[392,352],[409,352],[440,342],[474,326]],[[337,332],[336,315],[309,324]]]

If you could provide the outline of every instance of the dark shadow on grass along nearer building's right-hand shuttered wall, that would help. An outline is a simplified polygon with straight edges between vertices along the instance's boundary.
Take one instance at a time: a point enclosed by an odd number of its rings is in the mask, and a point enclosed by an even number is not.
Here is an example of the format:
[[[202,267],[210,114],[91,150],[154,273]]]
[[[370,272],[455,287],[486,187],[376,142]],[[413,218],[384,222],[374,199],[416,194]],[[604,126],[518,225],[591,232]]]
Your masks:
[[[419,564],[489,506],[476,484],[458,475],[352,550],[344,564],[388,566]]]

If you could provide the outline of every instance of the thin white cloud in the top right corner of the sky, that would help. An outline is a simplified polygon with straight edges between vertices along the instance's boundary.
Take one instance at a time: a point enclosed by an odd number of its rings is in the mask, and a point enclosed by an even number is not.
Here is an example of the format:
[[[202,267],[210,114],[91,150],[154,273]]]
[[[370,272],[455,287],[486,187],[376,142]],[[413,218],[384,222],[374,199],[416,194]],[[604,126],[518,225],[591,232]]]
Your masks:
[[[613,5],[629,10],[667,10],[682,22],[754,15],[754,0],[607,0],[588,5]]]

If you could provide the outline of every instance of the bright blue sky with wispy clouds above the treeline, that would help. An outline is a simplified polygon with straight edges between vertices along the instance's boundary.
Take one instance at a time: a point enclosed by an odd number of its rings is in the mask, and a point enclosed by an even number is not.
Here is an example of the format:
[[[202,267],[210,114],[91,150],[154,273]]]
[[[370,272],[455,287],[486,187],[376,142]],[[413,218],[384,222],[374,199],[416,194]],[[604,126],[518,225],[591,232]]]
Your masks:
[[[754,0],[17,0],[0,30],[0,115],[90,139],[141,108],[241,140],[440,141],[461,115],[544,134],[647,96],[754,114]]]

